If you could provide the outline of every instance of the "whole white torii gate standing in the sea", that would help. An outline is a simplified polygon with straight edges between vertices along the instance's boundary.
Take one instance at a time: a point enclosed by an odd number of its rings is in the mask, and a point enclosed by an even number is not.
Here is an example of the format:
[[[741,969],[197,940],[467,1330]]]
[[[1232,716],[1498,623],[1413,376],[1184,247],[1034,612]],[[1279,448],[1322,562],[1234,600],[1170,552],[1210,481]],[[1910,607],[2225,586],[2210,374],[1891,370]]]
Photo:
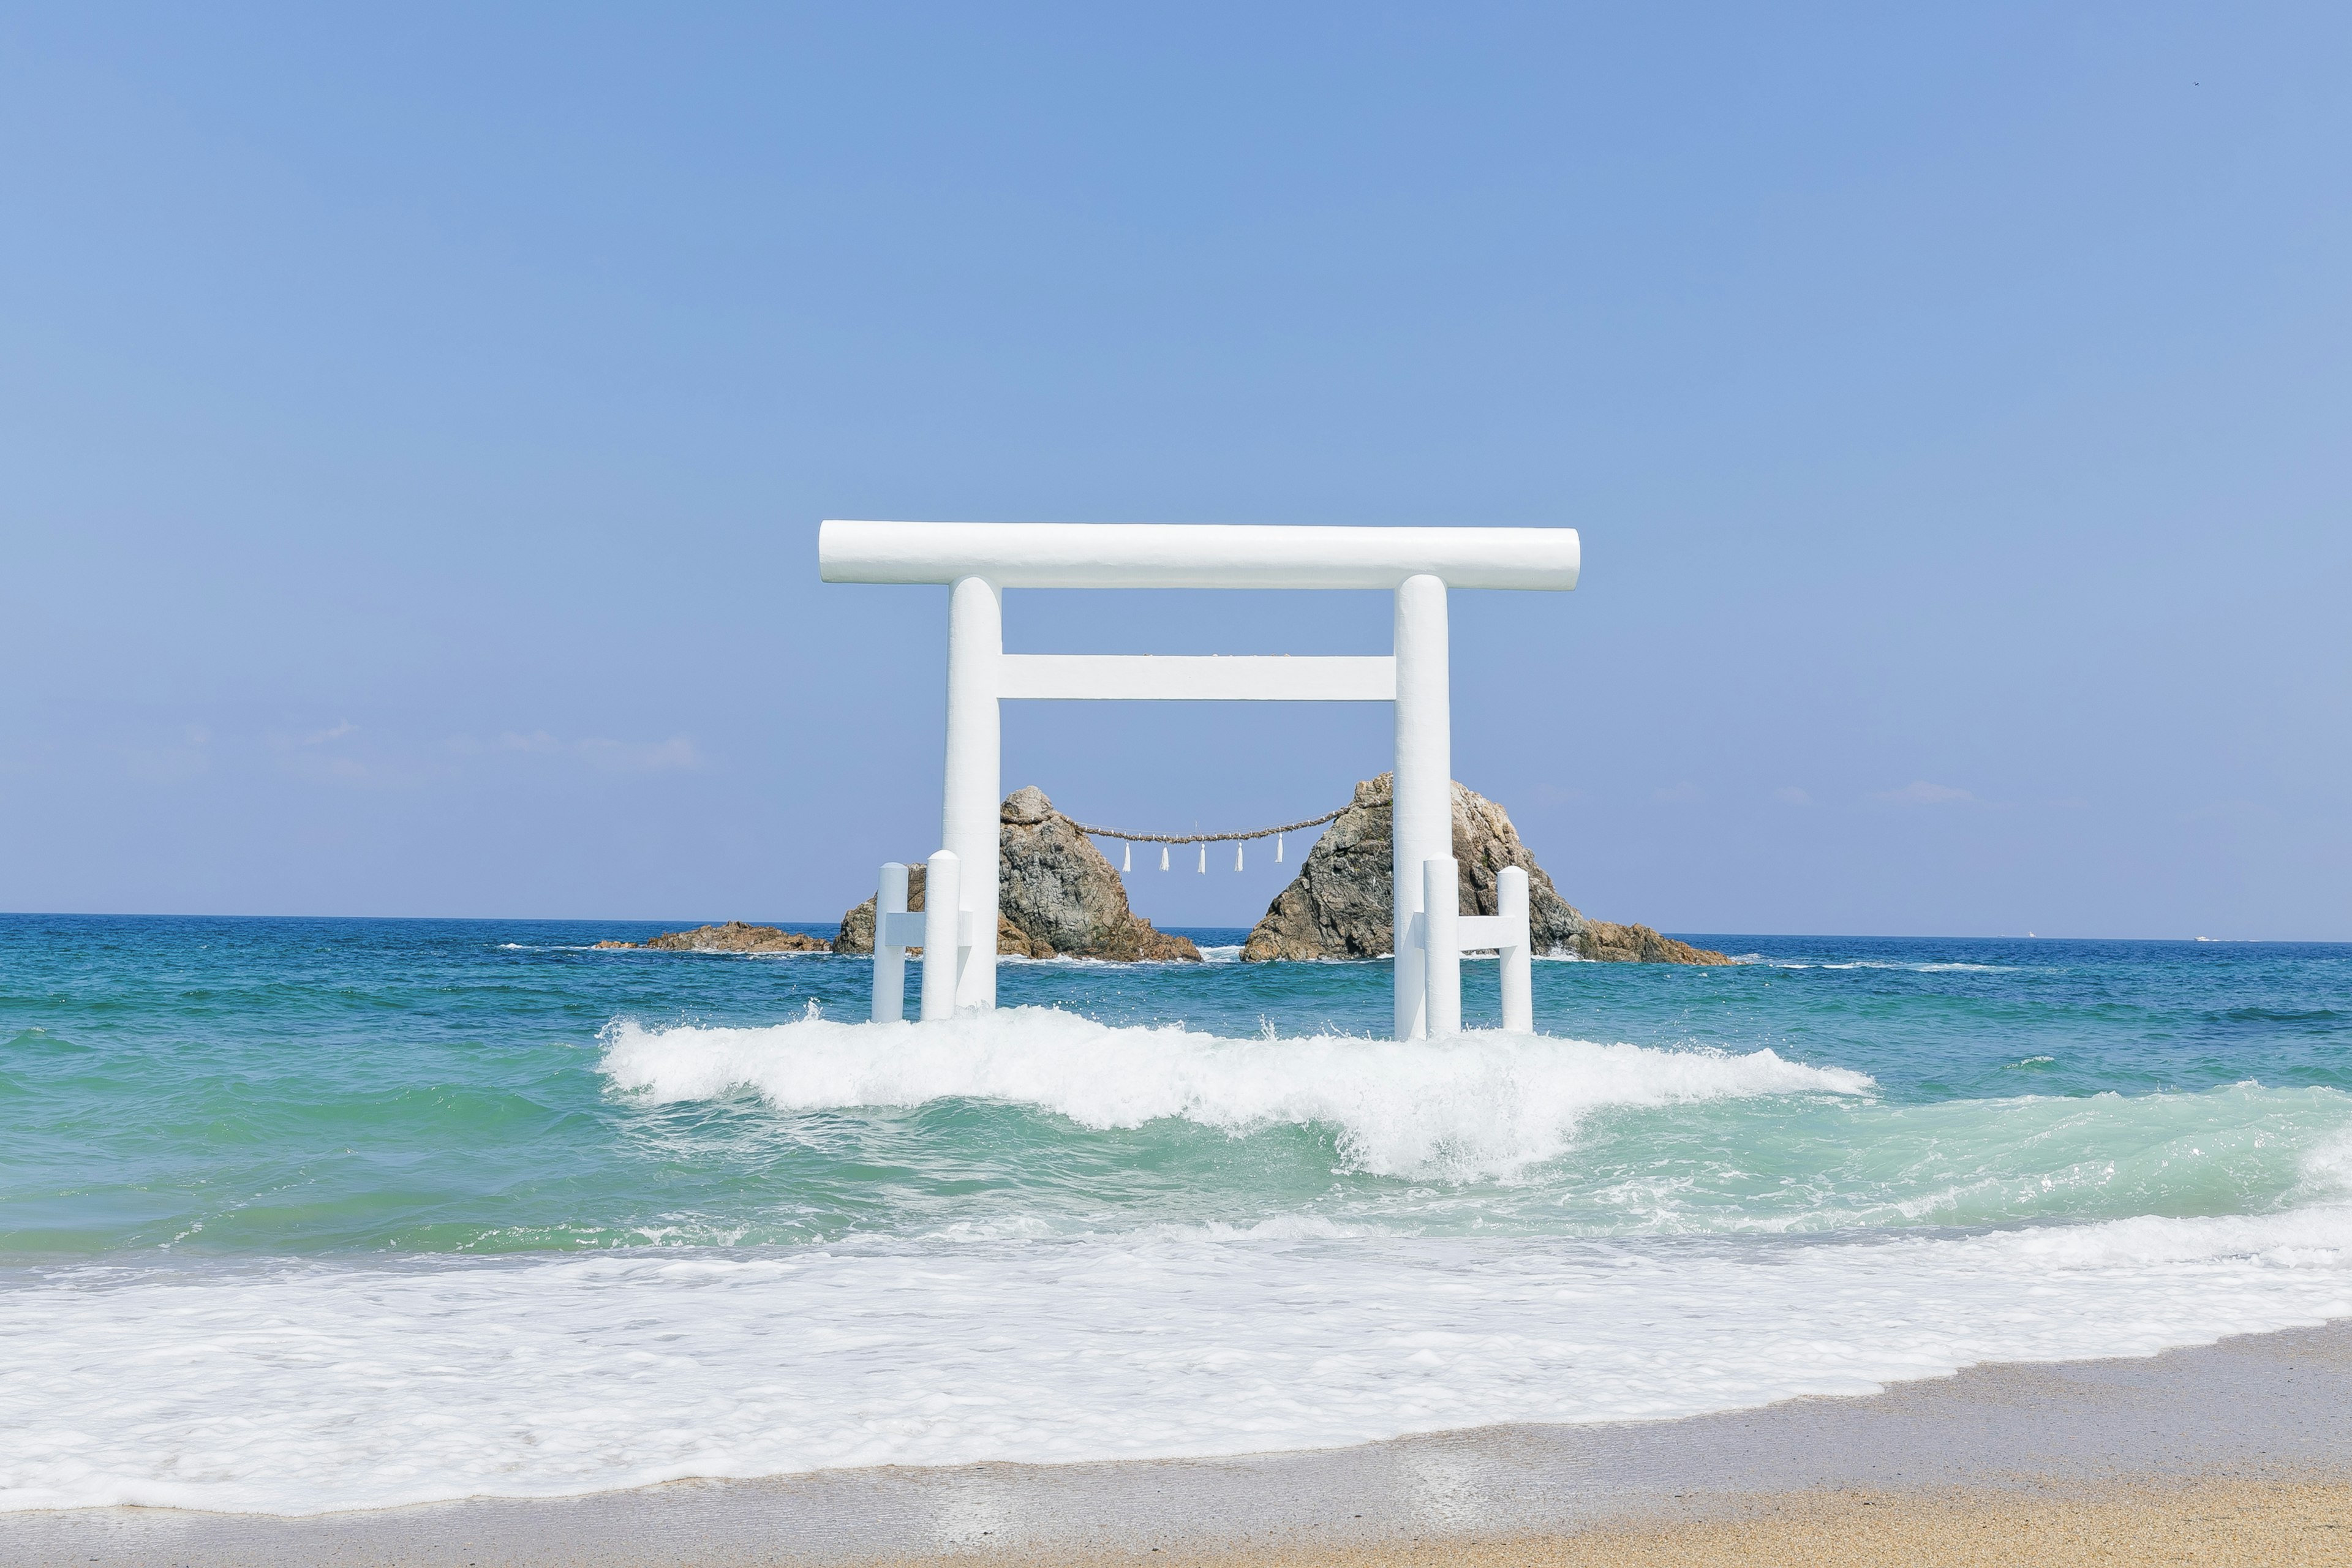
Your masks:
[[[1503,952],[1503,1027],[1534,1027],[1526,872],[1501,914],[1463,917],[1454,865],[1446,588],[1576,588],[1576,529],[1301,529],[1096,522],[826,522],[828,583],[948,585],[948,785],[924,910],[906,867],[875,900],[875,1018],[903,1013],[920,945],[922,1016],[997,1004],[997,703],[1004,698],[1395,703],[1397,1039],[1461,1030],[1461,954]],[[1388,588],[1388,658],[1007,654],[1007,588]],[[962,875],[971,867],[971,875]],[[1414,875],[1414,872],[1421,875]],[[953,964],[943,964],[946,954]]]

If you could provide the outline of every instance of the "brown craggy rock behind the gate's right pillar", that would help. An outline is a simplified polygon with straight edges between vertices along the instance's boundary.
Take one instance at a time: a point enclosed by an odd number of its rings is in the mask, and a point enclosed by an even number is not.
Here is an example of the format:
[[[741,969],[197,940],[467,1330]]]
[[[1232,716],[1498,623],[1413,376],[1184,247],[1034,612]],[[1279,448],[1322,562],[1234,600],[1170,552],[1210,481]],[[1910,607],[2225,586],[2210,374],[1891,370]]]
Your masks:
[[[1282,889],[1265,919],[1249,933],[1242,959],[1378,959],[1395,950],[1390,905],[1392,773],[1367,778],[1355,799],[1308,851],[1298,877]],[[1536,952],[1646,964],[1729,964],[1719,952],[1677,943],[1649,926],[1588,919],[1526,853],[1510,813],[1477,790],[1454,785],[1454,860],[1461,867],[1463,914],[1496,912],[1496,875],[1526,872],[1526,926]]]

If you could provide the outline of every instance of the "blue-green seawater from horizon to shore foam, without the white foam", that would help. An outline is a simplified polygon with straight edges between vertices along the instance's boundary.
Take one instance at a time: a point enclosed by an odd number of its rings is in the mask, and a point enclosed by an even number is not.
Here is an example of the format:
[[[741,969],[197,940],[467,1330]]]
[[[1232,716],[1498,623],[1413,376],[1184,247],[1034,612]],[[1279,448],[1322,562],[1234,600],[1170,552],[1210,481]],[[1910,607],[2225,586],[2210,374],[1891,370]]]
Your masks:
[[[1592,1105],[1573,1133],[1465,1128],[1451,1166],[1418,1145],[1383,1166],[1343,1145],[1409,1107],[1084,1126],[953,1093],[793,1117],[748,1088],[652,1103],[604,1070],[616,1027],[854,1020],[870,985],[861,959],[586,950],[652,931],[0,919],[0,1253],[790,1246],[1007,1213],[1423,1232],[2213,1215],[2293,1201],[2312,1150],[2352,1128],[2352,947],[1708,936],[1755,961],[1541,964],[1548,1032],[1773,1051],[1870,1088]],[[1468,973],[1468,1020],[1491,1023],[1494,966]],[[1009,964],[1002,990],[1228,1039],[1388,1020],[1385,964]]]

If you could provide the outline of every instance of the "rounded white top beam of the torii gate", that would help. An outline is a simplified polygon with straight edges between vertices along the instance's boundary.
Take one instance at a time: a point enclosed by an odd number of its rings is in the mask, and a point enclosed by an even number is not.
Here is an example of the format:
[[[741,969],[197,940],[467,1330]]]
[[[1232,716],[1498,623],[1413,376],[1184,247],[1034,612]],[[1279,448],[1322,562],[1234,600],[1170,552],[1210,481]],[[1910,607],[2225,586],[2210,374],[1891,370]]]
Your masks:
[[[997,588],[1576,588],[1576,529],[1301,529],[1176,522],[826,522],[828,583]]]

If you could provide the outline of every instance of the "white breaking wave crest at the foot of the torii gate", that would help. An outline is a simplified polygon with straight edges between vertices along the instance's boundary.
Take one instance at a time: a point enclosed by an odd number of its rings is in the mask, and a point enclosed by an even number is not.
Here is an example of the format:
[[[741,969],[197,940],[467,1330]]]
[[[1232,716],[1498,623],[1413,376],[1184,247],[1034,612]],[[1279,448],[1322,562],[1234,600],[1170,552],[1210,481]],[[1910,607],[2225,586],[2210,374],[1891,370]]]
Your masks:
[[[1875,1084],[1771,1051],[1656,1051],[1475,1032],[1439,1041],[1218,1039],[1108,1027],[1054,1009],[936,1025],[795,1023],[604,1032],[604,1074],[654,1103],[753,1091],[788,1112],[1000,1100],[1091,1128],[1181,1117],[1247,1133],[1327,1126],[1376,1175],[1510,1175],[1569,1147],[1611,1105],[1860,1095]]]

